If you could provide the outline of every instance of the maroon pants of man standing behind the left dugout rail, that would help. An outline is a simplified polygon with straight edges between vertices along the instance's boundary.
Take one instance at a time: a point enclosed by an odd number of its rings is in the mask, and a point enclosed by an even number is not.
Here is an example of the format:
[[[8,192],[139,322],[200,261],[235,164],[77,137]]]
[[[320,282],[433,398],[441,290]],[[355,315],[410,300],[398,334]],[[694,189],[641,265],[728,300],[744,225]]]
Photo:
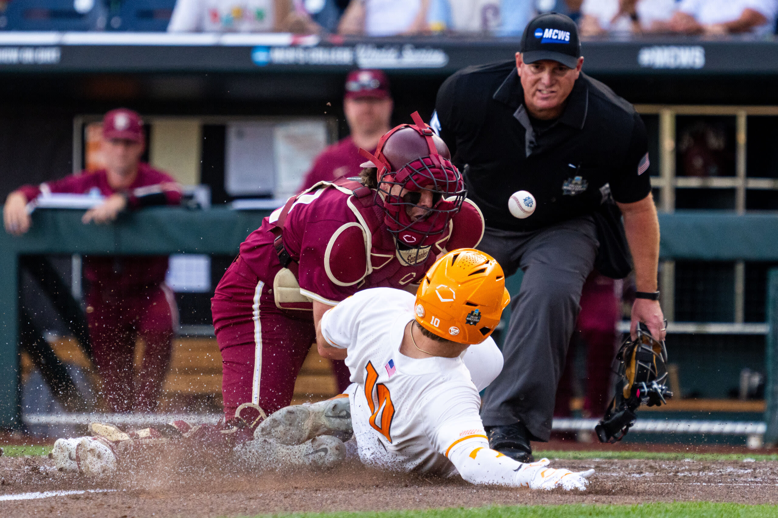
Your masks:
[[[86,296],[86,318],[97,372],[110,412],[153,412],[170,367],[178,310],[165,284],[117,294],[96,285]],[[145,341],[135,379],[135,341]]]

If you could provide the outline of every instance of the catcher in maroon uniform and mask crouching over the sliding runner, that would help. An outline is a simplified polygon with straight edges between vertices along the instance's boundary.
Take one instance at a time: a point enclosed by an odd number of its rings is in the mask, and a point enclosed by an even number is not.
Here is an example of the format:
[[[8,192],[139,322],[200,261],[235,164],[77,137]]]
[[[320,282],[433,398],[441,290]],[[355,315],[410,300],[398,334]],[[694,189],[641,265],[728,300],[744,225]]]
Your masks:
[[[437,255],[481,240],[481,212],[464,198],[446,144],[413,118],[381,137],[374,155],[361,151],[370,159],[361,182],[293,196],[240,245],[211,306],[226,419],[244,403],[268,415],[289,405],[328,308],[370,287],[415,290]]]

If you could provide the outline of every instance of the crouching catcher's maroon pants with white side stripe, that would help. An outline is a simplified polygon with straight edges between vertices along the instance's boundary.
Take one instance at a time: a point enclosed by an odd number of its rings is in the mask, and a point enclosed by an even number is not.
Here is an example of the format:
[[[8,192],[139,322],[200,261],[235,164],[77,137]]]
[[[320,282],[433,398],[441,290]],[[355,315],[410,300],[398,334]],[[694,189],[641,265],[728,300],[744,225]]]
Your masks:
[[[243,403],[253,402],[268,415],[289,405],[297,374],[316,341],[311,312],[277,308],[272,283],[260,280],[240,258],[216,287],[211,312],[222,353],[225,419],[233,419]],[[348,367],[333,362],[333,370],[338,390],[344,390]],[[254,419],[243,413],[241,417]]]

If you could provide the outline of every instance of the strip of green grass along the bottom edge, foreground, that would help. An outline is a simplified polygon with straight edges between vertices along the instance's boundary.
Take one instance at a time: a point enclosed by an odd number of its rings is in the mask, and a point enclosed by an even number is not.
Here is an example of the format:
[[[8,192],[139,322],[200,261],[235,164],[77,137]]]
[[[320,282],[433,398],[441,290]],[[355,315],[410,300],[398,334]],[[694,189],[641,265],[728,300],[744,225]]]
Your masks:
[[[267,515],[265,515],[267,516]],[[762,518],[778,516],[778,506],[746,506],[735,503],[668,502],[632,506],[489,506],[473,509],[425,509],[422,511],[381,511],[366,513],[274,514],[278,518]]]

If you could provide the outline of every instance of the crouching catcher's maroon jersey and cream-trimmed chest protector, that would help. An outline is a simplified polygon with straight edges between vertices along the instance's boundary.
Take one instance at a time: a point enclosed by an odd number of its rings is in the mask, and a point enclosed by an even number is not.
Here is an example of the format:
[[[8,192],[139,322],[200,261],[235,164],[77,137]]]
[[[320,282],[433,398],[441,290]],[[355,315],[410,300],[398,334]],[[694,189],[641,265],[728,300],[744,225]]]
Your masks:
[[[360,199],[344,186],[321,183],[297,196],[283,225],[283,243],[299,263],[301,294],[334,305],[357,290],[402,289],[419,283],[440,253],[474,248],[481,241],[483,217],[474,203],[465,200],[426,260],[410,265],[383,223],[383,209],[362,202],[373,200],[373,194]],[[240,245],[241,258],[266,283],[272,283],[281,268],[272,233],[281,212],[279,208],[266,217],[261,228]]]

